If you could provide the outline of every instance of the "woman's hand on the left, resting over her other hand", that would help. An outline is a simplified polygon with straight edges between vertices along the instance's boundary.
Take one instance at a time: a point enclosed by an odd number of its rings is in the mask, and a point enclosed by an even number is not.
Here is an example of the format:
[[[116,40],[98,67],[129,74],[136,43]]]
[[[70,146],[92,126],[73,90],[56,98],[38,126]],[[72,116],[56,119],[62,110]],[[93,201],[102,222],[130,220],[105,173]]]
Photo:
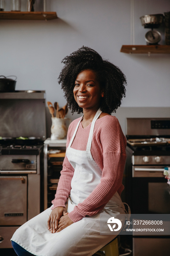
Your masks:
[[[51,230],[51,233],[55,233],[57,231],[58,222],[66,213],[67,210],[65,207],[56,207],[51,211],[50,217],[47,221],[48,229]]]

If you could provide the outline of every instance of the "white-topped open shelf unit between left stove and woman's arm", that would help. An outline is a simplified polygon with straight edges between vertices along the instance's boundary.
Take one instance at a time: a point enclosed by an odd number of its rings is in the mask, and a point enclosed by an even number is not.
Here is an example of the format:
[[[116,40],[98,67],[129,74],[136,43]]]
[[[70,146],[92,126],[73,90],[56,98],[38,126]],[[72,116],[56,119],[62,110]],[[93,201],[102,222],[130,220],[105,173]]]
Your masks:
[[[60,151],[60,152],[57,152]],[[44,210],[51,206],[54,199],[62,163],[66,152],[66,139],[44,142]]]

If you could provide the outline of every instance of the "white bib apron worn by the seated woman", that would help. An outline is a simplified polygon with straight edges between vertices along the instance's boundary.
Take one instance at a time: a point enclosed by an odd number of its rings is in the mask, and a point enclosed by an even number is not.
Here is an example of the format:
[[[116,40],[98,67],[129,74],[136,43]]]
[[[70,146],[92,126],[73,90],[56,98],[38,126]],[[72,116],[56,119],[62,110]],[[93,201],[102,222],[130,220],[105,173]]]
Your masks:
[[[86,150],[71,148],[81,120],[66,150],[66,156],[74,167],[68,212],[73,211],[78,203],[82,203],[100,183],[101,170],[90,152],[94,124],[100,114],[101,110],[98,110],[93,118]],[[116,236],[100,234],[102,220],[122,214],[119,219],[124,223],[125,208],[117,192],[98,214],[84,217],[59,233],[53,234],[47,228],[51,208],[52,206],[19,227],[11,240],[36,256],[91,256]],[[105,218],[100,218],[101,215]],[[104,225],[108,229],[106,223]]]

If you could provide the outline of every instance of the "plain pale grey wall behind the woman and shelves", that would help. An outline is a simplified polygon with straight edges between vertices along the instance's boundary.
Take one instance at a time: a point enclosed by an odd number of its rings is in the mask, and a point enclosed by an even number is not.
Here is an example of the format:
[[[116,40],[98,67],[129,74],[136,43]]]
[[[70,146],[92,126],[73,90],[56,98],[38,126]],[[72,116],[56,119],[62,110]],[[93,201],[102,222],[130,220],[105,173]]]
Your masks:
[[[22,4],[25,2],[22,0]],[[16,90],[46,90],[47,101],[65,105],[57,82],[61,60],[85,45],[119,66],[127,76],[123,107],[170,106],[170,54],[148,57],[120,52],[122,45],[131,44],[131,0],[47,2],[47,11],[56,11],[58,19],[0,20],[0,75],[16,75]],[[169,0],[134,1],[135,44],[145,45],[144,34],[148,31],[139,17],[167,11]],[[163,28],[158,30],[163,37],[161,44],[165,44]]]

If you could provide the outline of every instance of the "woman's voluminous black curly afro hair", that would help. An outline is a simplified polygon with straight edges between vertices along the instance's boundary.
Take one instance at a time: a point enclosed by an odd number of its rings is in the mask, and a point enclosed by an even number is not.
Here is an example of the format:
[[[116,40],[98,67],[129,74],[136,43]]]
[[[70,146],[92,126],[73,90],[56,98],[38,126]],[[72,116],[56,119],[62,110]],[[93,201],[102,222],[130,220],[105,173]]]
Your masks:
[[[101,97],[101,111],[111,114],[121,105],[121,100],[125,97],[125,85],[127,84],[122,71],[107,60],[103,60],[95,50],[82,46],[76,52],[66,56],[62,63],[64,67],[59,75],[58,82],[65,92],[68,108],[72,113],[83,112],[74,99],[73,89],[77,75],[85,69],[95,72],[104,97]]]

